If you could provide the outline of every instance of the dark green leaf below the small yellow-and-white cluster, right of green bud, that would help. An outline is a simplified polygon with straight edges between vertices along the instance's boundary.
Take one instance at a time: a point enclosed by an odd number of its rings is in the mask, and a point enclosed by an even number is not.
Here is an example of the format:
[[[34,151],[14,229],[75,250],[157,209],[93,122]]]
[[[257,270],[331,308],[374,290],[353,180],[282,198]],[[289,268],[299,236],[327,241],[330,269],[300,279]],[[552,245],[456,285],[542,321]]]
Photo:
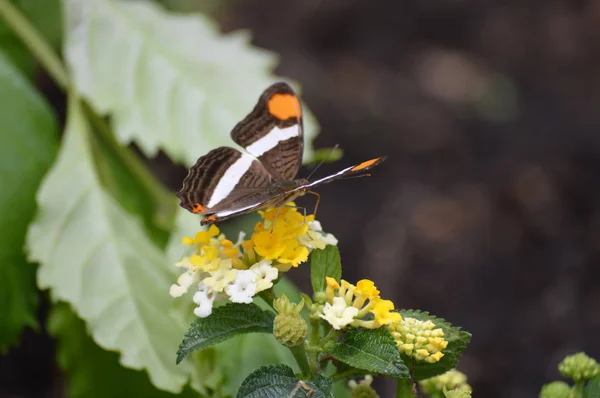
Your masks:
[[[353,329],[329,352],[339,361],[372,374],[408,377],[408,368],[387,328]]]

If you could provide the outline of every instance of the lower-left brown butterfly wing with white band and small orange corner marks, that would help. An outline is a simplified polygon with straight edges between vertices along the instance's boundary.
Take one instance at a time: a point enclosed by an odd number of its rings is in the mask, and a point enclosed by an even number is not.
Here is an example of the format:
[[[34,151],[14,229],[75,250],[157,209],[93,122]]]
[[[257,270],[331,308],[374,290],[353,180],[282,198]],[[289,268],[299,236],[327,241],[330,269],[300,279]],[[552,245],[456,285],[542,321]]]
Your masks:
[[[272,176],[253,156],[229,147],[202,156],[177,193],[181,207],[207,217],[202,224],[247,213],[273,197]],[[211,221],[212,220],[212,221]]]

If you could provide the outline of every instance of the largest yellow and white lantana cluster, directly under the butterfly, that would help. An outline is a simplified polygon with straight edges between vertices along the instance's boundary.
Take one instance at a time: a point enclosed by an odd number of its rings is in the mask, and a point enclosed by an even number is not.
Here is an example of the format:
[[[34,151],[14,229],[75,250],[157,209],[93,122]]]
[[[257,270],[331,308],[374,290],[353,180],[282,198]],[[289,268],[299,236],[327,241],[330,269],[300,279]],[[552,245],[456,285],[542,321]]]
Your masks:
[[[215,301],[251,303],[257,293],[273,286],[281,272],[306,262],[311,250],[337,245],[314,215],[305,216],[293,206],[259,212],[263,220],[250,239],[240,234],[235,244],[215,225],[193,238],[184,237],[182,243],[193,252],[175,264],[185,271],[169,294],[180,297],[196,289],[194,314],[204,318],[212,313]]]

